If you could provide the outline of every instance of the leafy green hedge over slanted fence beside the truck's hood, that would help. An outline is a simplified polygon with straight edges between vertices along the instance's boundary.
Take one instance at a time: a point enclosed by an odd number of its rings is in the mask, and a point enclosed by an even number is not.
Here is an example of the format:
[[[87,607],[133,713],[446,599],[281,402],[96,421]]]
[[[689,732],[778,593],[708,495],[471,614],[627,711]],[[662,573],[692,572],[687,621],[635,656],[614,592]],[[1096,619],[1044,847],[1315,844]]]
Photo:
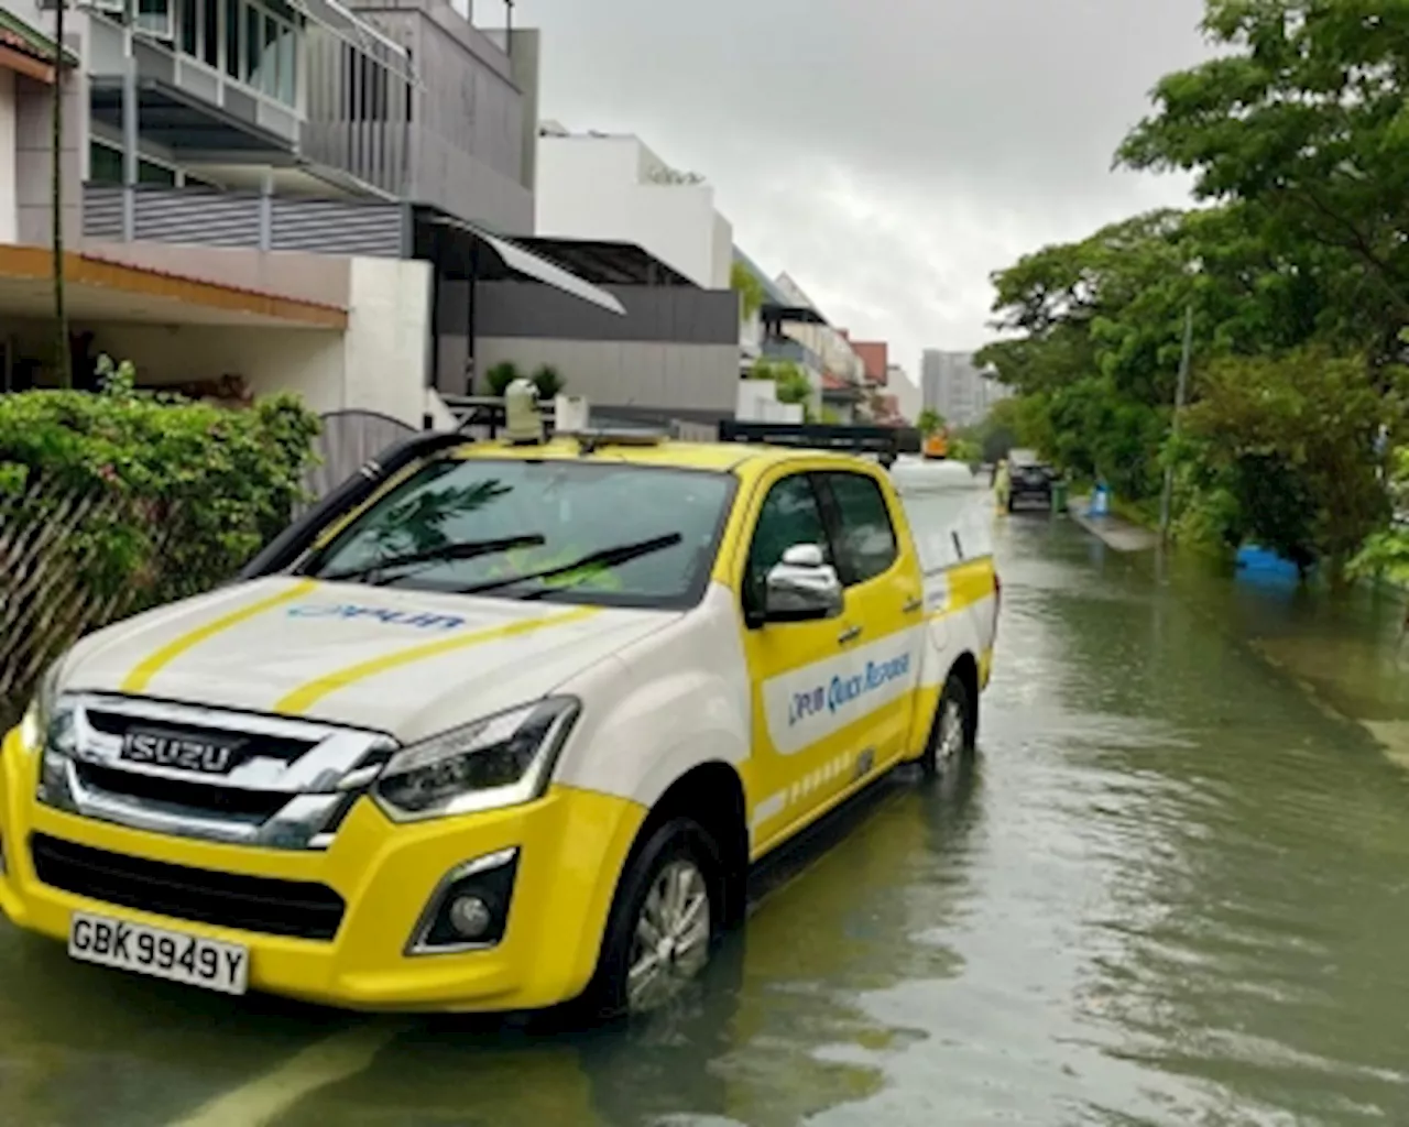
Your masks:
[[[318,418],[132,390],[0,396],[0,711],[87,630],[209,590],[287,524]]]

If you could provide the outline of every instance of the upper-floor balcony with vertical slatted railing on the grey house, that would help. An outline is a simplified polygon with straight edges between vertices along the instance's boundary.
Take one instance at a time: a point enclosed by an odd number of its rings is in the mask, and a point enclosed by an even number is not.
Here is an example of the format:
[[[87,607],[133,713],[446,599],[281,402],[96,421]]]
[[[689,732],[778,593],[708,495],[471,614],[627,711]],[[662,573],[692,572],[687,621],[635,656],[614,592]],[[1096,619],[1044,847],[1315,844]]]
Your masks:
[[[92,11],[92,116],[120,132],[125,28],[118,0],[97,4],[118,14]],[[406,193],[410,59],[334,0],[144,0],[132,54],[138,134],[183,166],[299,165]]]

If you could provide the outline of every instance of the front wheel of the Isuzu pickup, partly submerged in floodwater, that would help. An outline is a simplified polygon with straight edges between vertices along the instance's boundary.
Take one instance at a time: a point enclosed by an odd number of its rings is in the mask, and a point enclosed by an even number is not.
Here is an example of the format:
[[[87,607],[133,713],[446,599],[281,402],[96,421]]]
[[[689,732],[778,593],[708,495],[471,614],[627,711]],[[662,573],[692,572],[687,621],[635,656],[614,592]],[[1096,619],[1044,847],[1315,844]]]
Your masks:
[[[713,838],[689,818],[666,821],[635,851],[617,886],[597,969],[582,997],[593,1017],[658,1009],[699,976],[723,923],[721,872]],[[671,899],[681,893],[683,903]],[[666,949],[658,945],[650,951],[650,934],[658,934]],[[643,969],[652,966],[654,973]]]

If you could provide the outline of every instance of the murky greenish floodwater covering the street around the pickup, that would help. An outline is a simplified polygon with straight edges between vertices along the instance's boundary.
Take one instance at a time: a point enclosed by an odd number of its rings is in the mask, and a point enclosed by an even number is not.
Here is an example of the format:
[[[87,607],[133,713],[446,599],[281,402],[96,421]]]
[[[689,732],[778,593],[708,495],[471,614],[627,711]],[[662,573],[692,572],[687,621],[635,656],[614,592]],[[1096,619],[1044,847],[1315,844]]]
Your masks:
[[[1409,1123],[1398,614],[999,524],[975,768],[761,875],[679,1007],[548,1033],[232,1002],[0,924],[24,1127]]]

